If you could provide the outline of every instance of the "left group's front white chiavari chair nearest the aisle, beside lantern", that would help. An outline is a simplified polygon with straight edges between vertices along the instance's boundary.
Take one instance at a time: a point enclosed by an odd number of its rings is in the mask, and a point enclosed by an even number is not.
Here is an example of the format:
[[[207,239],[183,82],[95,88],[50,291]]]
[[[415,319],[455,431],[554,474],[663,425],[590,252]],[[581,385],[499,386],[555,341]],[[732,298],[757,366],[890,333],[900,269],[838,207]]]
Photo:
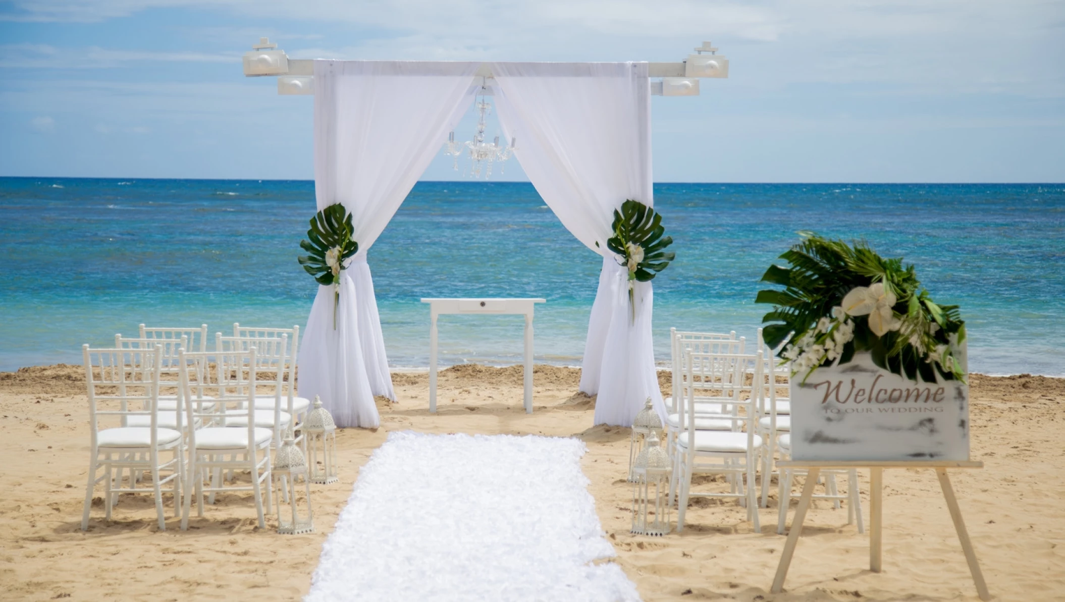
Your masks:
[[[212,392],[212,403],[184,404],[186,420],[202,424],[189,430],[189,482],[185,486],[181,528],[189,527],[192,500],[196,498],[196,514],[203,516],[203,497],[218,491],[251,491],[259,527],[266,523],[262,491],[265,487],[265,511],[272,507],[273,482],[271,444],[274,429],[256,426],[256,347],[247,351],[220,351],[211,354],[180,352],[179,378],[185,398],[192,398],[194,383]],[[214,360],[214,370],[210,364]],[[249,420],[249,414],[252,414]],[[234,426],[241,424],[241,426]],[[247,471],[248,483],[232,479],[228,485],[222,471]]]

